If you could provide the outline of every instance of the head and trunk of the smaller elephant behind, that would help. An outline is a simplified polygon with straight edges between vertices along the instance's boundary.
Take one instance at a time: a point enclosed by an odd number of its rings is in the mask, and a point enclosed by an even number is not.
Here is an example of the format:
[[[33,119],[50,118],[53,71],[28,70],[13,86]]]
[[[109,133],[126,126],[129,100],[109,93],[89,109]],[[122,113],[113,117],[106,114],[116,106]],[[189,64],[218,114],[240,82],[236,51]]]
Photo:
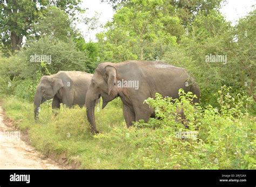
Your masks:
[[[53,76],[43,76],[37,85],[36,95],[34,99],[34,114],[35,120],[38,119],[38,112],[40,104],[44,103],[45,100],[52,99],[58,90],[62,88],[63,82],[58,77]]]

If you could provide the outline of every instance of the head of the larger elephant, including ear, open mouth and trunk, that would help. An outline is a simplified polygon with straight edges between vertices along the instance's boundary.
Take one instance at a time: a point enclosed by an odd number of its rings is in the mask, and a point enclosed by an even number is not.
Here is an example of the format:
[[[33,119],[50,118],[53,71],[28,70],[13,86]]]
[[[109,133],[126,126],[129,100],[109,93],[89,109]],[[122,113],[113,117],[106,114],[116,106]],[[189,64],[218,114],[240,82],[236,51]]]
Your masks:
[[[100,63],[92,77],[85,99],[87,119],[93,133],[98,133],[95,125],[95,102],[101,96],[103,99],[102,109],[104,109],[108,102],[118,97],[118,88],[114,86],[116,82],[117,69],[114,64],[111,62]]]

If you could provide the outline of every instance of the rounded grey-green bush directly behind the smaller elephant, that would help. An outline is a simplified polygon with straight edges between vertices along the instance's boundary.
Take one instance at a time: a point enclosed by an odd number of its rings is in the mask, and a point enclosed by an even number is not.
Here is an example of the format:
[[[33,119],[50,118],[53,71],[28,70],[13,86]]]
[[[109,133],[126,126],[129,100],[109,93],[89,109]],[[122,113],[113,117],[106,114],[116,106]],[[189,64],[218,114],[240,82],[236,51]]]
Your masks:
[[[59,70],[88,71],[87,64],[90,63],[87,61],[86,53],[78,51],[72,39],[69,42],[63,42],[46,36],[38,41],[28,41],[20,54],[25,60],[25,66],[29,66],[30,71],[41,69],[39,63],[33,62],[33,60],[30,62],[33,55],[51,56],[51,62],[47,64],[51,74],[55,74]],[[31,75],[32,72],[27,71],[27,73]]]

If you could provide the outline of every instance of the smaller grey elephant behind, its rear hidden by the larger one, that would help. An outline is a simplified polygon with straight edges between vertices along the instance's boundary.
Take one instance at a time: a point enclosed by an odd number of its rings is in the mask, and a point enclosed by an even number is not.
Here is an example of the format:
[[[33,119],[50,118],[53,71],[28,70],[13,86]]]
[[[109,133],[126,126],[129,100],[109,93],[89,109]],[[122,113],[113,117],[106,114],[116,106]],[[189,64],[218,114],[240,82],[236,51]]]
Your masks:
[[[68,107],[83,107],[91,78],[92,74],[82,71],[59,71],[57,74],[43,76],[36,89],[35,119],[38,119],[40,104],[52,98],[52,109],[59,109],[60,103]]]

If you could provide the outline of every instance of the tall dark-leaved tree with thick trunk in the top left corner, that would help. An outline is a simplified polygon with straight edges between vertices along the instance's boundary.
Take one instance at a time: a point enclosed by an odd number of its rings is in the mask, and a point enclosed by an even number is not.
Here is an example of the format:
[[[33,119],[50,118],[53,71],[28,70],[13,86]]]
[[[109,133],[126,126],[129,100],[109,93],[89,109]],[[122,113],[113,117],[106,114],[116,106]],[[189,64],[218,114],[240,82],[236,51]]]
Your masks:
[[[2,0],[0,1],[0,33],[1,43],[5,48],[16,51],[24,36],[36,34],[31,30],[32,23],[37,21],[49,6],[57,6],[74,16],[79,8],[80,0],[45,1],[45,0]]]

